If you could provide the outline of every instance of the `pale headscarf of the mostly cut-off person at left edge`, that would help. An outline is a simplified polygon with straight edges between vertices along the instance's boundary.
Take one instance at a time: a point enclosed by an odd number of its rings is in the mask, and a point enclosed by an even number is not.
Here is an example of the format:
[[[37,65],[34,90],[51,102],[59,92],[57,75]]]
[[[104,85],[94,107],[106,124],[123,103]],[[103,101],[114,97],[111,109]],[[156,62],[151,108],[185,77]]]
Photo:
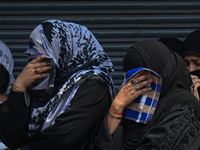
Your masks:
[[[5,68],[8,70],[9,75],[10,75],[10,82],[8,84],[7,91],[5,93],[5,94],[8,94],[10,92],[10,88],[12,87],[12,84],[15,82],[15,78],[13,76],[14,62],[13,62],[13,57],[12,57],[10,49],[1,40],[0,40],[0,63],[5,66]]]

